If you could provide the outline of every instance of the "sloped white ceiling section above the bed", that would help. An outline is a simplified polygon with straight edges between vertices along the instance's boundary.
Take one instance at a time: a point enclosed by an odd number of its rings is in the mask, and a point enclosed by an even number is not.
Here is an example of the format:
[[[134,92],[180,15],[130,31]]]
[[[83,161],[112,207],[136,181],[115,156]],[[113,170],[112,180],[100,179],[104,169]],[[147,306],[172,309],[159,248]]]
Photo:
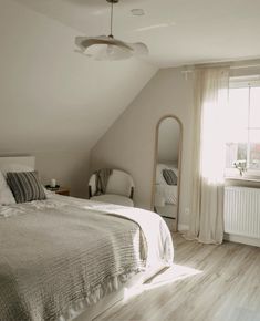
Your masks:
[[[90,61],[79,31],[18,2],[0,1],[0,153],[89,151],[157,69]]]

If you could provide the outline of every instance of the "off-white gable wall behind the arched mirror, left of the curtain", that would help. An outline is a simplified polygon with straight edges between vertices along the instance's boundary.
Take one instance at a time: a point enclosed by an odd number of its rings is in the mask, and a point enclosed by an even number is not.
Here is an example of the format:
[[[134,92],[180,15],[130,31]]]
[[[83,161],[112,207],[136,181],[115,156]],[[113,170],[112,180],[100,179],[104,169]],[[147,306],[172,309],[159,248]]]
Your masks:
[[[188,224],[193,147],[193,80],[180,69],[159,71],[91,152],[91,168],[116,167],[132,174],[135,203],[149,208],[156,124],[176,115],[184,126],[180,188],[180,224]]]

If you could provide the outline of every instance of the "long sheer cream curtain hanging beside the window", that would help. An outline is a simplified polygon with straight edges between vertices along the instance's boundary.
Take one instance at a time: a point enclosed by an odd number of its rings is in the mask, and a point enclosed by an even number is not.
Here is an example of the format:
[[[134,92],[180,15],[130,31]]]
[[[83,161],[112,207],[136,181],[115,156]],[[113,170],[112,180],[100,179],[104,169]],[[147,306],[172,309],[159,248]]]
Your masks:
[[[221,244],[229,68],[195,71],[193,204],[188,238]]]

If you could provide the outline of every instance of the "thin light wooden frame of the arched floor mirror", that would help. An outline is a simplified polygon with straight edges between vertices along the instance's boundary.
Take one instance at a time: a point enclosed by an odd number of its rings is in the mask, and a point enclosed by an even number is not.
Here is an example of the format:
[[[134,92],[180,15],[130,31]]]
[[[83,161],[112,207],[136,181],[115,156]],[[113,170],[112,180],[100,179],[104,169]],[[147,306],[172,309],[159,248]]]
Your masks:
[[[153,173],[153,183],[152,183],[152,203],[150,203],[150,209],[152,211],[154,211],[154,204],[155,204],[155,182],[156,182],[156,166],[158,164],[158,141],[159,141],[159,126],[163,123],[164,120],[166,118],[174,118],[175,121],[177,121],[178,125],[179,125],[179,148],[178,148],[178,180],[177,180],[177,185],[178,185],[178,204],[177,204],[177,217],[174,220],[174,227],[173,227],[173,231],[177,231],[178,230],[178,217],[179,217],[179,204],[180,204],[180,182],[181,182],[181,154],[183,154],[183,135],[184,135],[184,127],[183,127],[183,123],[181,121],[175,116],[175,115],[165,115],[162,118],[159,118],[157,125],[156,125],[156,131],[155,131],[155,151],[154,151],[154,173]]]

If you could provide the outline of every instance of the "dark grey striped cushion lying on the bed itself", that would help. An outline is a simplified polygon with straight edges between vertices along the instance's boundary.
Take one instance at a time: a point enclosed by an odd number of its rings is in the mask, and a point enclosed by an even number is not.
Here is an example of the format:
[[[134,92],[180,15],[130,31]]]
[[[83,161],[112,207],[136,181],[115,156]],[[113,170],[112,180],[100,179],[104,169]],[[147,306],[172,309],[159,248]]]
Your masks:
[[[7,183],[17,203],[45,199],[37,172],[7,173]]]

